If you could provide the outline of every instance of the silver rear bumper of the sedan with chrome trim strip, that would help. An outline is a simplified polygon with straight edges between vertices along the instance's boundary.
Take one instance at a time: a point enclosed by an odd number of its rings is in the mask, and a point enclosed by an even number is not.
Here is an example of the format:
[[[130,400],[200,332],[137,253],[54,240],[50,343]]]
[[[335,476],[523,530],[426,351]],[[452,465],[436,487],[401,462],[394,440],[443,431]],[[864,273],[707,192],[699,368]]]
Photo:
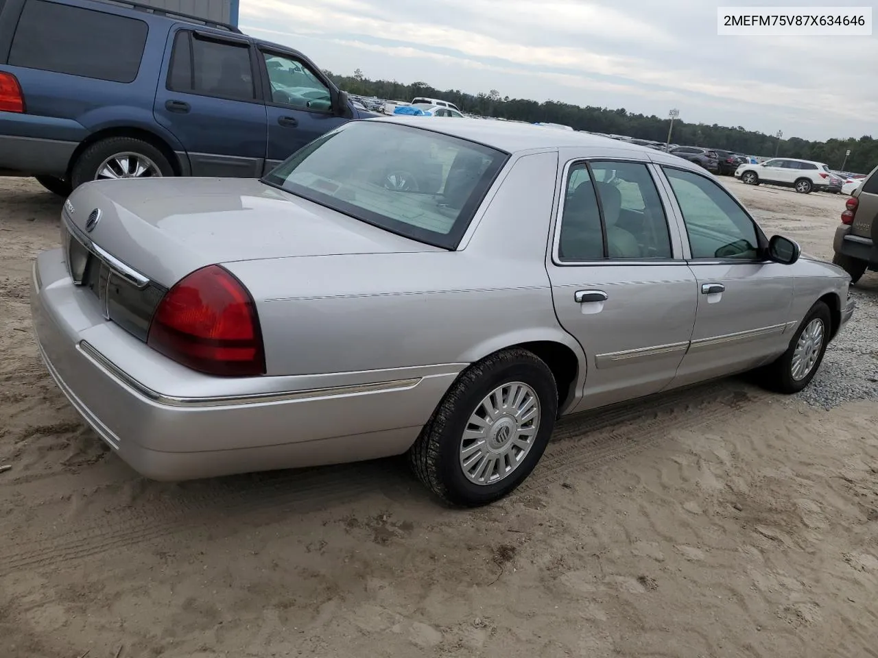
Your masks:
[[[400,368],[218,383],[156,354],[104,320],[92,301],[70,281],[61,249],[40,254],[31,306],[49,373],[124,461],[157,480],[403,453],[459,372],[456,366]],[[191,395],[216,392],[218,385],[242,392]]]

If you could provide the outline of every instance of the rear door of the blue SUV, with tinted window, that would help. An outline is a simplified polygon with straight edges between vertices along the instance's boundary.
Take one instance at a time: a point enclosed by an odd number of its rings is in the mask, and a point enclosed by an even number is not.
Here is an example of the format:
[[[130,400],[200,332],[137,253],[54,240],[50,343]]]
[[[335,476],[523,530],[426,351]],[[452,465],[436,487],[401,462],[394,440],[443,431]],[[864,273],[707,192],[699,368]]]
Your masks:
[[[155,93],[155,120],[183,144],[196,176],[262,175],[265,105],[247,39],[171,32]]]

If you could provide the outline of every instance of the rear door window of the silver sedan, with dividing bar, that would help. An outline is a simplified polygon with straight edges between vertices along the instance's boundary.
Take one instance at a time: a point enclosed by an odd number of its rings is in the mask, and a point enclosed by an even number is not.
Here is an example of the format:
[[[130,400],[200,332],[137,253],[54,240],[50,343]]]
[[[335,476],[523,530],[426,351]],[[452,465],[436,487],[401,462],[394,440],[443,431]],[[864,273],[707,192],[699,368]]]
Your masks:
[[[646,165],[581,162],[567,181],[561,261],[673,257],[665,209]]]

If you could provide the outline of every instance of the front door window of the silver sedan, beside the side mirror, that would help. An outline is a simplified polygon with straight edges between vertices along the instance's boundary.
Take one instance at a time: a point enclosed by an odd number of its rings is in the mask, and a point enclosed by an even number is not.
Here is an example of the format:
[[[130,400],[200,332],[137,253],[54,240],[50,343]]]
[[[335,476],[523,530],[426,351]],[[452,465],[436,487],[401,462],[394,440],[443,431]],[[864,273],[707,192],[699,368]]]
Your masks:
[[[664,168],[680,204],[694,259],[759,259],[756,226],[716,182],[674,168]]]

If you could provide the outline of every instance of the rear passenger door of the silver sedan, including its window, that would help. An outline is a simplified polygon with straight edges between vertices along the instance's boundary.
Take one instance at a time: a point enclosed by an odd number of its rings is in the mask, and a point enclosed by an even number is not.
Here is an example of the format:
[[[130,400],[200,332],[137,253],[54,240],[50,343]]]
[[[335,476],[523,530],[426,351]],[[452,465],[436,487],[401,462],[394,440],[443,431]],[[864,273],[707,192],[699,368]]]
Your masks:
[[[564,169],[547,268],[558,320],[587,355],[576,411],[662,390],[688,347],[694,274],[655,171],[617,158]]]

